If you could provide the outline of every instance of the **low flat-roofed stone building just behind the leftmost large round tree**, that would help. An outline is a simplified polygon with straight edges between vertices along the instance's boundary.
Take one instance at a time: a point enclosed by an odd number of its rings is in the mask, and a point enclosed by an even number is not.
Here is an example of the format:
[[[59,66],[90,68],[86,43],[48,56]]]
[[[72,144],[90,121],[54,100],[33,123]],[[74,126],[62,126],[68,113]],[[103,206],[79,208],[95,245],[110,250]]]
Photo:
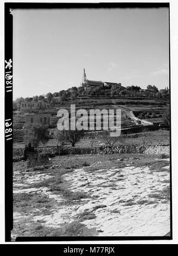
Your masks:
[[[50,125],[51,115],[41,114],[41,113],[30,113],[30,114],[25,114],[25,120],[26,120],[26,125],[27,124]]]

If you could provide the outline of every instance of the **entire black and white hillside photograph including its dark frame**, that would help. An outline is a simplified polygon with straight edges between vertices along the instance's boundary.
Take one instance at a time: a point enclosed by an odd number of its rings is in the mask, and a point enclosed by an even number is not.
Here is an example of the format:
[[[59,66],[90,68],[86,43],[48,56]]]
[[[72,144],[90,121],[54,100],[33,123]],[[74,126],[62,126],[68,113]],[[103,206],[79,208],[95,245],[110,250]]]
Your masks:
[[[169,3],[7,8],[11,242],[171,239]]]

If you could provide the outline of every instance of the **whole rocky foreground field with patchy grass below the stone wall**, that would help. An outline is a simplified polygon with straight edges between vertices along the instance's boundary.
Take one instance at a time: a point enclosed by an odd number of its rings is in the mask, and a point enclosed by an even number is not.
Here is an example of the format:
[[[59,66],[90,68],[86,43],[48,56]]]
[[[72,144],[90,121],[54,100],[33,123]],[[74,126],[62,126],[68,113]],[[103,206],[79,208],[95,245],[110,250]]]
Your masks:
[[[165,236],[169,159],[142,154],[62,156],[53,169],[14,163],[17,236]]]

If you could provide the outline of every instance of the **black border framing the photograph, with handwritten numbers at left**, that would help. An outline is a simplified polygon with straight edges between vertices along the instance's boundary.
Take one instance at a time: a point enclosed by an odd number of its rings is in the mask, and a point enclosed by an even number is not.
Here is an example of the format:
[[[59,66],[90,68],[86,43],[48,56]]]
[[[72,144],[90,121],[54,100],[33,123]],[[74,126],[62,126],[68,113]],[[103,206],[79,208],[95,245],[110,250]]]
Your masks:
[[[170,86],[170,3],[169,2],[110,2],[110,3],[36,3],[36,2],[6,2],[4,4],[5,14],[5,60],[12,60],[13,66],[13,17],[10,14],[10,8],[13,9],[56,9],[56,8],[169,8],[169,88]],[[6,65],[6,64],[5,64]],[[7,69],[5,69],[7,72]],[[11,68],[11,71],[13,67]],[[4,73],[6,74],[6,73]],[[170,93],[171,94],[171,93]],[[171,97],[170,97],[171,98]],[[171,113],[171,99],[170,99],[170,113]],[[12,122],[12,91],[7,92],[7,84],[5,81],[5,120]],[[5,121],[6,122],[6,121]],[[6,129],[7,127],[5,127]],[[6,135],[6,134],[5,134]],[[11,241],[11,230],[13,229],[13,189],[12,189],[12,140],[7,140],[5,137],[5,241]],[[173,223],[172,223],[172,179],[171,179],[171,122],[170,122],[170,236],[72,236],[72,237],[17,237],[17,242],[50,242],[50,241],[139,241],[139,240],[172,240],[173,239]]]

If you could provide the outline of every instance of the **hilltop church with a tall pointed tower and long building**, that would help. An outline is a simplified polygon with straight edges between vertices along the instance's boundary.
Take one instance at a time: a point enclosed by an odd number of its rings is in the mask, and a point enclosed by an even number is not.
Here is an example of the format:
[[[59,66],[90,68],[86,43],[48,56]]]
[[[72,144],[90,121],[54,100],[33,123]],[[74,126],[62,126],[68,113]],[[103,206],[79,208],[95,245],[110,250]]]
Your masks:
[[[122,89],[121,83],[112,83],[112,82],[102,82],[102,81],[94,81],[94,80],[88,80],[87,75],[84,72],[82,75],[82,87],[97,87],[97,86],[107,86],[107,87],[115,87],[115,89]]]

